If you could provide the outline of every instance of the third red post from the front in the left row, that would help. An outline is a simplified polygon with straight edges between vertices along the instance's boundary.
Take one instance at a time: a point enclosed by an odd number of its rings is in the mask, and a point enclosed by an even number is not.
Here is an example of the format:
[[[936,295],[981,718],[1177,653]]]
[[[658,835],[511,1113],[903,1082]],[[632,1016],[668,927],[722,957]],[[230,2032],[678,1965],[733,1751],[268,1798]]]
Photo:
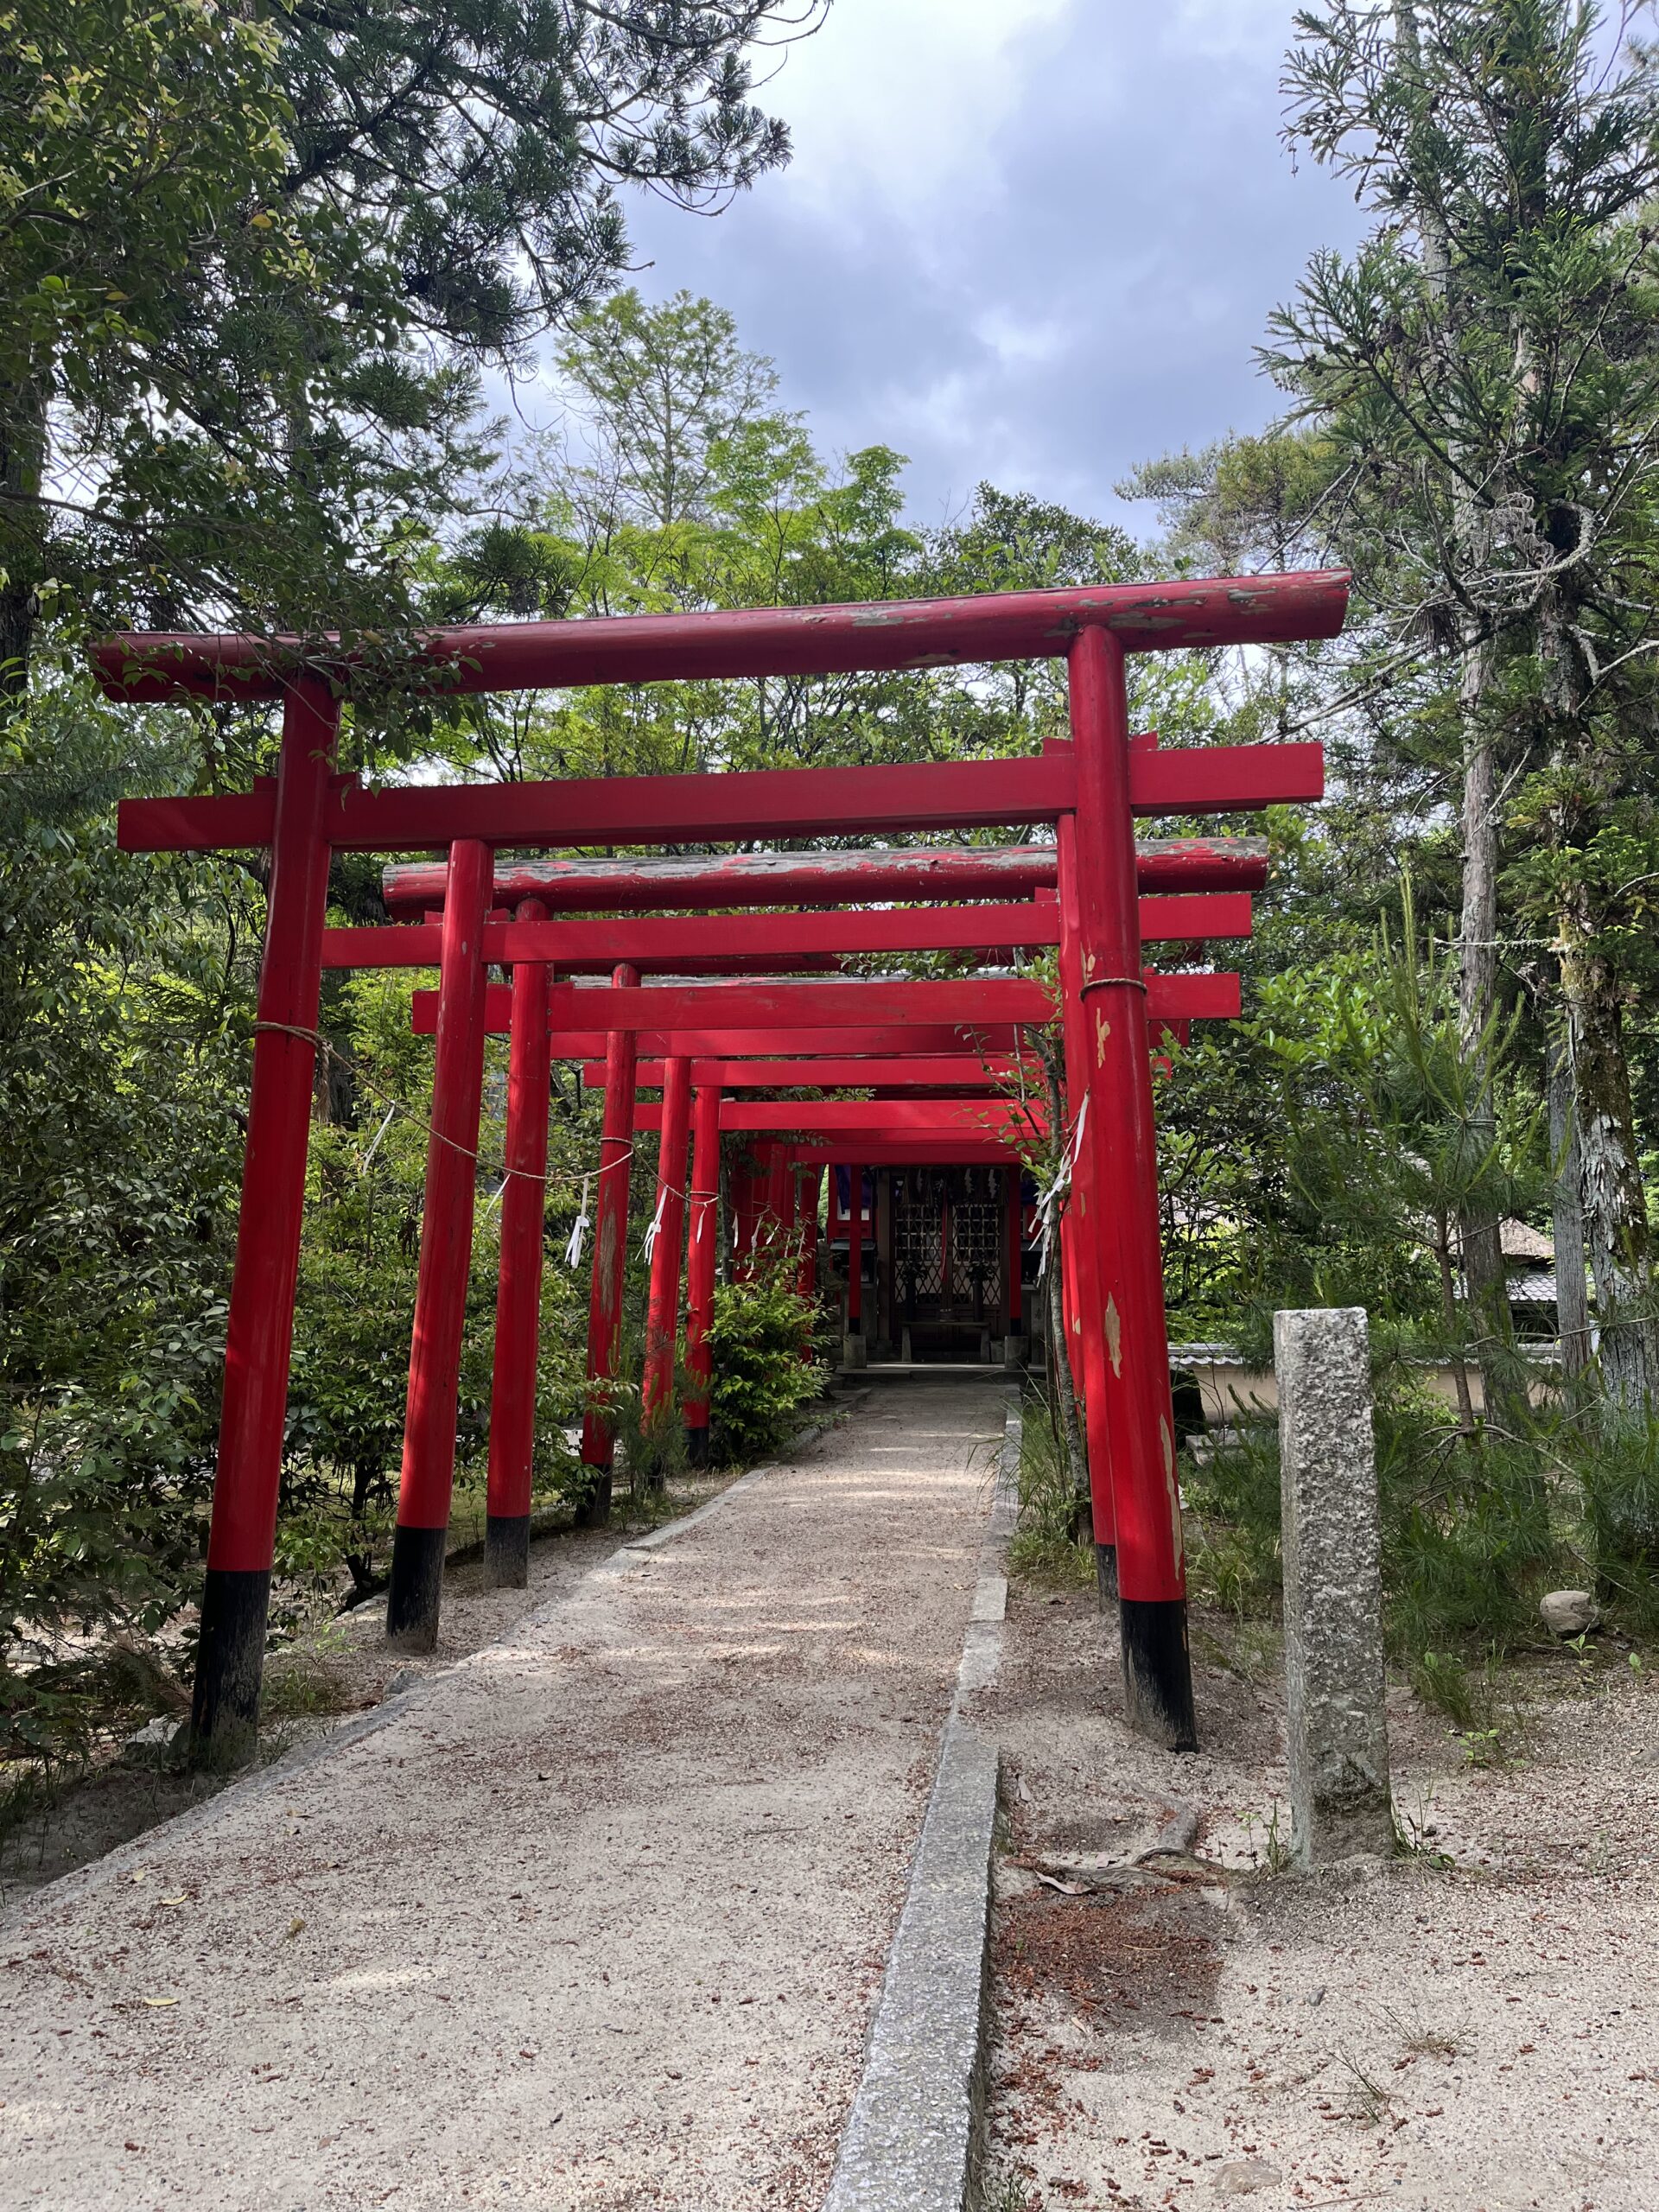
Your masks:
[[[546,905],[522,900],[520,922]],[[531,1462],[535,1458],[535,1369],[542,1349],[542,1243],[546,1234],[546,1108],[551,1033],[549,971],[513,969],[513,1029],[507,1048],[507,1186],[502,1265],[495,1292],[495,1369],[489,1398],[489,1502],[484,1586],[522,1590],[531,1579]]]

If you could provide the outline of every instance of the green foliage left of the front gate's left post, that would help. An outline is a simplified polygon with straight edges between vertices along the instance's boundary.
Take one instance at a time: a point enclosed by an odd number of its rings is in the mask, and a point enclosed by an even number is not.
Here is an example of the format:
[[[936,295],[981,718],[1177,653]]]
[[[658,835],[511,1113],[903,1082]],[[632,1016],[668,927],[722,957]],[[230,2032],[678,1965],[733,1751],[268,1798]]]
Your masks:
[[[0,748],[0,1694],[49,1752],[80,1639],[197,1582],[257,938],[239,872],[113,852],[148,723],[44,692]]]

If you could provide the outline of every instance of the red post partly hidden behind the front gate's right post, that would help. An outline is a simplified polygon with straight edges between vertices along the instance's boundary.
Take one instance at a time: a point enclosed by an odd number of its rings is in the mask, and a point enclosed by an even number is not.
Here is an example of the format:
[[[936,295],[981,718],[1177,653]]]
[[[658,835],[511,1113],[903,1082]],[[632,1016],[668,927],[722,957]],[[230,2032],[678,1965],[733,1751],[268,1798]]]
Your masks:
[[[1057,900],[1060,900],[1060,1035],[1066,1055],[1066,1106],[1071,1128],[1091,1097],[1088,1009],[1084,1002],[1084,922],[1077,887],[1077,816],[1062,814],[1055,823]],[[1139,973],[1139,971],[1137,971]],[[1095,1099],[1095,1115],[1102,1102]],[[1088,1137],[1084,1126],[1084,1137]],[[1088,1447],[1088,1500],[1095,1524],[1095,1575],[1102,1595],[1117,1588],[1117,1502],[1113,1491],[1113,1427],[1106,1411],[1106,1338],[1102,1316],[1106,1298],[1099,1281],[1099,1239],[1108,1232],[1097,1210],[1091,1223],[1095,1192],[1095,1152],[1082,1144],[1071,1166],[1071,1199],[1060,1230],[1064,1336],[1073,1380],[1084,1398],[1084,1442]]]

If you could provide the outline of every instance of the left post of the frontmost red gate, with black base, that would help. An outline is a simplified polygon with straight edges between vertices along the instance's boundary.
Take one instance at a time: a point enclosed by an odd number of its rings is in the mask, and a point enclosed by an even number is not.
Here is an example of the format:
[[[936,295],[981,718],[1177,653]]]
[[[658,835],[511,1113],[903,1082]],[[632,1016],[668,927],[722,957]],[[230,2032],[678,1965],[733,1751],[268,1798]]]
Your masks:
[[[341,708],[327,684],[305,677],[288,692],[237,1270],[230,1279],[219,1469],[190,1708],[190,1756],[197,1765],[234,1761],[252,1745],[259,1725],[316,1075],[312,1037],[323,984],[327,796],[338,721]]]

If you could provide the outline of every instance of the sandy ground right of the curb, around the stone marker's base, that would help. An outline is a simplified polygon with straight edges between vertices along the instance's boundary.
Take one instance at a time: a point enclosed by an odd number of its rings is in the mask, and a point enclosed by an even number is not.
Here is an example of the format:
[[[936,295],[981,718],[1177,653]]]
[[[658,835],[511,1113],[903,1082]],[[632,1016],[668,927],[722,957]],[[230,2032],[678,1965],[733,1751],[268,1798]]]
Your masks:
[[[1015,1586],[984,1701],[991,2212],[1652,2212],[1659,1692],[1628,1655],[1540,1652],[1498,1765],[1391,1692],[1416,1847],[1301,1876],[1274,1655],[1194,1621],[1206,1750],[1175,1759],[1121,1725],[1115,1637],[1093,1593]]]

